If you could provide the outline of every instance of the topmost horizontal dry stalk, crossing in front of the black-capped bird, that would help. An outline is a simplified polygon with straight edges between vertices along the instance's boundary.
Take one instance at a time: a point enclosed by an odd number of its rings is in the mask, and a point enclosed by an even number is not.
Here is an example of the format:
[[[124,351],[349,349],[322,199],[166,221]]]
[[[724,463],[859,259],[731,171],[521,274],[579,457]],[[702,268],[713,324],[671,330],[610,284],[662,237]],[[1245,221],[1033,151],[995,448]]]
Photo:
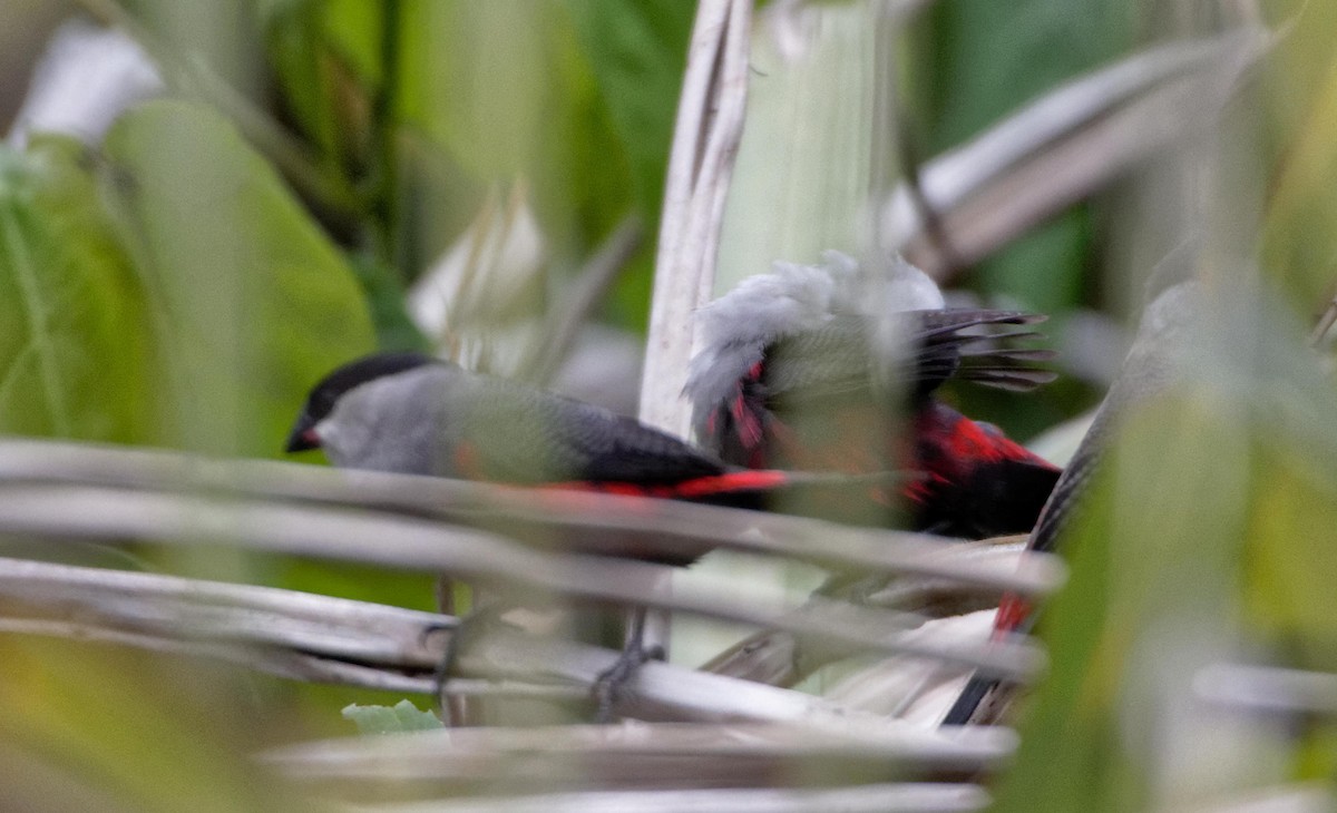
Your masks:
[[[1062,564],[1050,556],[1013,562],[977,555],[991,547],[988,543],[945,543],[936,536],[852,528],[755,511],[289,463],[207,460],[176,452],[92,444],[0,441],[0,487],[40,483],[168,493],[185,489],[293,509],[314,509],[313,505],[321,504],[374,508],[499,528],[520,538],[551,539],[560,534],[575,551],[608,552],[622,547],[623,552],[630,548],[646,556],[673,556],[730,548],[793,556],[833,570],[910,574],[1025,595],[1047,594],[1063,579]],[[0,508],[7,503],[12,499],[0,503]],[[60,519],[53,517],[55,521]],[[356,547],[356,542],[353,544]],[[362,547],[385,564],[425,567],[412,559],[385,560],[389,554],[377,551],[370,542]]]

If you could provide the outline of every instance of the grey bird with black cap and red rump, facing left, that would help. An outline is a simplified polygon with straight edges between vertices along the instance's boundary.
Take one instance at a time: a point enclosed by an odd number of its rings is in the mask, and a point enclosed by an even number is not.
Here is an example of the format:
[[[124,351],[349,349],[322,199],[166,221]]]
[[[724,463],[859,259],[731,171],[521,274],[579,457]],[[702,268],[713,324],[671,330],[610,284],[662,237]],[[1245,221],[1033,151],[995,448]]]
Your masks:
[[[317,382],[285,449],[337,467],[759,507],[796,477],[731,467],[635,419],[424,353],[374,353]],[[698,552],[644,558],[687,564]]]

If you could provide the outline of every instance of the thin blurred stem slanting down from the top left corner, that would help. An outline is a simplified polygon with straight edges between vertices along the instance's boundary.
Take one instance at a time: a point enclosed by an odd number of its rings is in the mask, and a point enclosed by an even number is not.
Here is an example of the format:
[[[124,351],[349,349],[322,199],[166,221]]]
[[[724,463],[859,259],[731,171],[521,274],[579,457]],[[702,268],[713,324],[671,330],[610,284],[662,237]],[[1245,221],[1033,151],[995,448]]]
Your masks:
[[[306,148],[265,111],[223,82],[218,75],[180,53],[150,32],[116,0],[78,0],[102,23],[124,31],[152,57],[163,79],[191,91],[230,118],[247,140],[263,152],[283,175],[333,225],[346,229],[362,215],[357,193],[342,177],[324,171]]]

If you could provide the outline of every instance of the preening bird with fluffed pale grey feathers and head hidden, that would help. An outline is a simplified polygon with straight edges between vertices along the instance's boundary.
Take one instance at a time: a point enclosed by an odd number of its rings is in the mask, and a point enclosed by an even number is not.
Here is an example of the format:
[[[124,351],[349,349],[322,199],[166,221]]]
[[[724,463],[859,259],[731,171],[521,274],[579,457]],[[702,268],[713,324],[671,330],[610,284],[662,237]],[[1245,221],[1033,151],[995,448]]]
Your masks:
[[[703,308],[685,388],[697,437],[750,468],[905,468],[917,475],[901,497],[919,531],[1031,531],[1059,467],[935,393],[951,378],[1017,392],[1054,380],[1029,366],[1052,353],[1005,345],[1032,338],[1024,326],[1044,317],[945,308],[923,271],[900,257],[888,265],[877,277],[838,251],[821,265],[778,262]],[[989,326],[1003,332],[980,333]]]

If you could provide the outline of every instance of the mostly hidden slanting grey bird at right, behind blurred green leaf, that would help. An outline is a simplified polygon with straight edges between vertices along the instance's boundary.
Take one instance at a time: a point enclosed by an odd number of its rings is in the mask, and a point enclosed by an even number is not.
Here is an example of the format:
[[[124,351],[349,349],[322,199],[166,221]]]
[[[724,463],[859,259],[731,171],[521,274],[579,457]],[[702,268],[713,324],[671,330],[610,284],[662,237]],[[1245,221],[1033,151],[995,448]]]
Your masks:
[[[1063,535],[1082,515],[1091,481],[1124,415],[1136,404],[1169,389],[1175,381],[1179,361],[1177,353],[1186,344],[1195,320],[1203,318],[1206,310],[1202,283],[1183,278],[1186,269],[1179,261],[1190,253],[1190,247],[1181,247],[1167,255],[1152,274],[1148,287],[1155,296],[1143,310],[1138,333],[1114,384],[1096,408],[1091,427],[1078,444],[1027,539],[1027,551],[1051,552],[1059,548]],[[1025,634],[1034,627],[1036,618],[1036,608],[1029,602],[1004,595],[991,639],[1001,641]],[[1005,706],[1009,689],[996,678],[972,675],[941,725],[988,722]]]

